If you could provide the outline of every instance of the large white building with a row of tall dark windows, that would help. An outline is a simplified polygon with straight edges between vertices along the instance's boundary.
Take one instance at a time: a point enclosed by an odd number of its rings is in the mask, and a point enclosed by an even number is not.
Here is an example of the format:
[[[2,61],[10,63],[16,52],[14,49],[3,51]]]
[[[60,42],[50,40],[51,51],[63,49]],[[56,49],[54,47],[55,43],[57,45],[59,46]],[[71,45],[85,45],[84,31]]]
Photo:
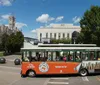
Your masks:
[[[49,27],[41,27],[36,29],[37,38],[39,41],[43,39],[62,39],[72,38],[74,31],[80,32],[80,26],[74,26],[73,24],[53,24]]]

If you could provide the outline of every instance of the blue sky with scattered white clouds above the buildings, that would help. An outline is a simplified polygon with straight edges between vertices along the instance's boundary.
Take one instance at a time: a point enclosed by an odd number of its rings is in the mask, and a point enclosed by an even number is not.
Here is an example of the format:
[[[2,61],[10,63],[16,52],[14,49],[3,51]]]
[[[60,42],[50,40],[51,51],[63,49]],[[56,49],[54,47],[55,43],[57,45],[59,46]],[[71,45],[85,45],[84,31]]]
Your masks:
[[[100,0],[0,0],[0,25],[15,16],[16,26],[25,37],[36,38],[35,29],[52,24],[80,25],[84,12]]]

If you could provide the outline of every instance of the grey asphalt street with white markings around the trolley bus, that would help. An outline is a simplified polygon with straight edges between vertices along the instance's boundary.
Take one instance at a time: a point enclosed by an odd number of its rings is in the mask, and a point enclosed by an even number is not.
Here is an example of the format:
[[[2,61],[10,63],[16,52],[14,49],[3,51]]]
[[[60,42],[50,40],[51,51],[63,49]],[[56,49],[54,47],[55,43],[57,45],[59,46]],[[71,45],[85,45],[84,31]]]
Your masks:
[[[81,77],[79,75],[39,75],[21,78],[21,66],[14,65],[17,55],[6,56],[6,64],[0,64],[0,85],[100,85],[100,74]]]

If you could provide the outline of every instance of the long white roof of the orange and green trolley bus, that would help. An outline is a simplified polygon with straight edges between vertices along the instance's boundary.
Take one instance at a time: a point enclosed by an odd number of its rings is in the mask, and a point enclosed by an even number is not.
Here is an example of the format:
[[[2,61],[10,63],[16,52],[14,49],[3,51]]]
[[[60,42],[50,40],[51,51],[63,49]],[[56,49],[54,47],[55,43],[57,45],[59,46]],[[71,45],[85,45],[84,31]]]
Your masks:
[[[32,45],[25,42],[24,48],[21,50],[39,50],[39,51],[60,51],[60,50],[99,50],[100,47],[96,47],[95,44],[38,44]]]

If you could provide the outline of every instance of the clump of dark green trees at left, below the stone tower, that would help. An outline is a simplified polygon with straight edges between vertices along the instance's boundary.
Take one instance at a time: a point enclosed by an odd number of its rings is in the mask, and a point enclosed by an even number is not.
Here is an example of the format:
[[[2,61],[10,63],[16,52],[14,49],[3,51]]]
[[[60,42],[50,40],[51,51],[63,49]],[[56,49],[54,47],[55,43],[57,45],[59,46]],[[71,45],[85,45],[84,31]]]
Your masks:
[[[16,34],[12,33],[11,35],[4,34],[2,36],[2,46],[4,47],[5,52],[14,53],[19,52],[20,48],[23,46],[24,36],[21,32]]]

